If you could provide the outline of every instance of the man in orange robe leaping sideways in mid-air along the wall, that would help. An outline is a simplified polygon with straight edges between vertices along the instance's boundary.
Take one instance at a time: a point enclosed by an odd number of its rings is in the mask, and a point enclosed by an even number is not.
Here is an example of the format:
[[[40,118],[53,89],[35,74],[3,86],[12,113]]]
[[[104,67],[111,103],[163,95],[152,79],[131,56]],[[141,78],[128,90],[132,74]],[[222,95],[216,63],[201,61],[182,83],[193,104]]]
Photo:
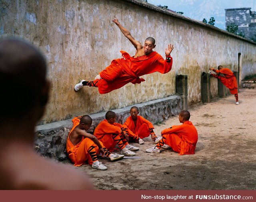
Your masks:
[[[78,91],[83,86],[94,86],[98,87],[100,94],[105,94],[121,88],[129,82],[140,84],[145,81],[139,76],[154,72],[165,74],[172,69],[172,57],[170,56],[174,48],[172,44],[169,44],[168,48],[165,49],[166,60],[164,60],[160,54],[153,51],[154,47],[156,47],[154,38],[148,37],[144,45],[142,45],[132,37],[130,31],[118,22],[118,19],[114,19],[112,22],[118,26],[124,36],[134,45],[136,48],[135,55],[131,57],[125,51],[120,51],[123,58],[113,60],[106,69],[95,77],[95,80],[81,80],[80,83],[74,86],[75,91]]]

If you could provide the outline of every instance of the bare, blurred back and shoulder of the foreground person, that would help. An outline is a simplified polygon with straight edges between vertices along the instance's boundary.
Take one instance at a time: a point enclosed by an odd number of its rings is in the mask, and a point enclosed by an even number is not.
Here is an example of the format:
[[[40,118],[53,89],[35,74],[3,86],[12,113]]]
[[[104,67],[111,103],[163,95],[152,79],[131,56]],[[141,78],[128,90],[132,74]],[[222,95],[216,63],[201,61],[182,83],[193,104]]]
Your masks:
[[[74,190],[92,189],[88,178],[73,168],[44,159],[32,148],[10,147],[0,155],[2,190]]]

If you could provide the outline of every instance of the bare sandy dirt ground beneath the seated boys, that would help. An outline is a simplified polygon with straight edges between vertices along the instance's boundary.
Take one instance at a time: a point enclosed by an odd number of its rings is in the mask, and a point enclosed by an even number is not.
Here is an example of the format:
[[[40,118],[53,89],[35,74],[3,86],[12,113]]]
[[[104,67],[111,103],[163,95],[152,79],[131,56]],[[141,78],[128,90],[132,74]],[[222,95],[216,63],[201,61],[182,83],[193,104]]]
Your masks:
[[[256,89],[240,89],[239,105],[233,95],[211,103],[189,106],[190,121],[198,130],[194,155],[178,155],[171,149],[146,153],[151,138],[136,155],[140,159],[110,162],[100,159],[106,171],[83,165],[98,190],[255,190],[256,189]],[[155,133],[179,125],[174,116]],[[117,151],[116,153],[120,153]]]

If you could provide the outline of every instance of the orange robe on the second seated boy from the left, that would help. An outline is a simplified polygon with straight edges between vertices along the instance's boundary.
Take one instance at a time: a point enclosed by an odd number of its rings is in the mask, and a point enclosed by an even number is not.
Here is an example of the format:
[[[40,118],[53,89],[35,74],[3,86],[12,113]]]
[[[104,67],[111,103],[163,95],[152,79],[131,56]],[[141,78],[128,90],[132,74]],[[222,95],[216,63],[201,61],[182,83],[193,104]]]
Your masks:
[[[122,127],[121,124],[118,124],[118,123],[110,124],[106,119],[104,119],[95,128],[94,135],[98,138],[99,141],[102,141],[104,146],[109,151],[113,151],[116,146],[116,141],[114,141],[112,134],[121,135],[121,127]]]

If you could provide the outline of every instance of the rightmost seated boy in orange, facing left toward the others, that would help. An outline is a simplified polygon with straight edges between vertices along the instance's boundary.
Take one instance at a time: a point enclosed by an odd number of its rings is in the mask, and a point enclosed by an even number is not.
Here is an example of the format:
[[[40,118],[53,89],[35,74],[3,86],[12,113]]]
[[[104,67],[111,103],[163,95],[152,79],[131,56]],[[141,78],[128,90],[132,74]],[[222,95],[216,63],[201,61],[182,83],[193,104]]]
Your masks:
[[[196,143],[198,140],[198,133],[192,122],[189,121],[190,113],[183,110],[179,114],[180,126],[172,126],[164,129],[161,132],[162,139],[158,142],[156,147],[146,149],[149,153],[160,153],[161,147],[172,147],[173,151],[180,155],[194,154]]]

